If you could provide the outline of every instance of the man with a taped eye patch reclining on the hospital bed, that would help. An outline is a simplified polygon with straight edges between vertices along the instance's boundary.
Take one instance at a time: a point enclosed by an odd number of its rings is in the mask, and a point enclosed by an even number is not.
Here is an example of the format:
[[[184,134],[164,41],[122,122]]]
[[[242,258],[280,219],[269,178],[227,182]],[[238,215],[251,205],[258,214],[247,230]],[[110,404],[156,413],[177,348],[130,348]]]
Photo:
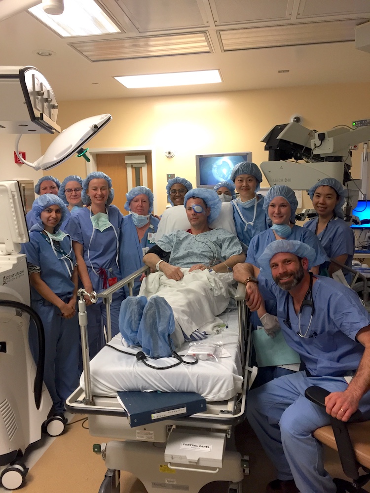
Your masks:
[[[179,348],[185,340],[191,339],[194,331],[210,333],[221,323],[217,315],[225,310],[230,299],[232,267],[245,260],[236,236],[224,229],[209,227],[221,209],[214,190],[190,190],[185,195],[184,206],[190,229],[163,235],[148,251],[144,263],[154,272],[143,281],[139,293],[142,299],[128,298],[121,306],[120,330],[122,322],[125,329],[121,333],[126,342],[139,343],[153,357],[171,355],[166,335],[171,334],[174,346]],[[155,300],[158,297],[165,301]],[[151,307],[151,318],[145,322],[150,303],[157,307]],[[171,312],[168,316],[166,310]],[[134,321],[134,333],[127,331],[128,319]],[[141,330],[140,325],[145,330]],[[149,347],[151,339],[155,338],[153,330],[161,334],[163,343],[158,345],[156,340],[155,348]]]

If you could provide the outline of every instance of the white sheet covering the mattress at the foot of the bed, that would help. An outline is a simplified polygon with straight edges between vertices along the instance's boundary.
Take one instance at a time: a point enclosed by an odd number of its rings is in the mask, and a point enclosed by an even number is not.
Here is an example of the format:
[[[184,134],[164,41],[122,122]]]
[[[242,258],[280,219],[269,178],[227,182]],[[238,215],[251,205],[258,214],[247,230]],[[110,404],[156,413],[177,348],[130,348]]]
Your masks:
[[[227,400],[237,394],[243,384],[240,362],[238,312],[226,311],[220,318],[228,325],[220,334],[208,336],[206,341],[222,341],[230,354],[219,360],[198,361],[196,365],[180,364],[175,368],[154,370],[138,361],[138,349],[122,345],[120,334],[111,345],[132,355],[105,346],[90,362],[93,395],[115,396],[117,390],[160,390],[162,392],[197,392],[208,402]],[[182,346],[184,354],[189,343]],[[174,358],[147,359],[150,365],[168,366]],[[83,374],[80,386],[84,388]]]

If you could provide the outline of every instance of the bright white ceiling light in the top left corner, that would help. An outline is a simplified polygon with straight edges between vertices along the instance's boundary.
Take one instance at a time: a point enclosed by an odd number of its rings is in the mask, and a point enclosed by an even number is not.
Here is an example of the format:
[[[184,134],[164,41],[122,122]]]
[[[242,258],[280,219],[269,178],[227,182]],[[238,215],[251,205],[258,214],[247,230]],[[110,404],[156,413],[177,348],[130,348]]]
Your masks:
[[[94,0],[64,0],[64,12],[60,15],[45,14],[41,3],[29,12],[63,37],[120,33]]]

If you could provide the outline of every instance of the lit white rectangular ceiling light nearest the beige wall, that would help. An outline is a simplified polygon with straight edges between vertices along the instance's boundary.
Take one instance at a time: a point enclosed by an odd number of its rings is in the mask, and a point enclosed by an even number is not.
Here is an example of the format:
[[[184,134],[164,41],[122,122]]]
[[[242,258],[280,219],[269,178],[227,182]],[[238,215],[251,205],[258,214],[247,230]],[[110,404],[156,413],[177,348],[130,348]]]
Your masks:
[[[114,78],[128,89],[139,87],[189,86],[222,82],[219,70],[153,73],[148,75],[127,75]]]

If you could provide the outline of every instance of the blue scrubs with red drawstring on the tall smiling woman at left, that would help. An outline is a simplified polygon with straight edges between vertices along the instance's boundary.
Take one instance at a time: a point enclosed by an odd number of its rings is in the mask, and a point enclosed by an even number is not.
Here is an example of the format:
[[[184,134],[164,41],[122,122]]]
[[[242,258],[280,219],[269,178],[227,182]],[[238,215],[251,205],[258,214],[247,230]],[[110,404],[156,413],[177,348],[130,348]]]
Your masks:
[[[122,275],[118,268],[118,238],[122,225],[123,215],[115,206],[107,206],[108,219],[112,226],[103,232],[94,229],[90,210],[81,208],[70,216],[64,228],[72,240],[83,246],[83,259],[87,271],[97,293],[103,291],[111,282],[120,281]],[[95,271],[95,272],[94,272]],[[109,281],[111,279],[111,281]],[[104,280],[107,284],[104,285]],[[111,332],[112,337],[118,334],[118,315],[121,302],[125,296],[123,290],[113,294],[111,303]],[[88,317],[88,339],[90,358],[93,358],[104,346],[102,322],[107,325],[106,306],[101,298],[97,303],[86,308]]]

